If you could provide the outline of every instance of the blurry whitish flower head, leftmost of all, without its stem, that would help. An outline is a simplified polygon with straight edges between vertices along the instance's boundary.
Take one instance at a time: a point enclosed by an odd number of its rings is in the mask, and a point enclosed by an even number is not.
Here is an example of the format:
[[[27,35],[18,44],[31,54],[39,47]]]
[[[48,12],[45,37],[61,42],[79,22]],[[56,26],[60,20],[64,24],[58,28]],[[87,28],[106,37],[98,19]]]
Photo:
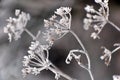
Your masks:
[[[17,18],[10,17],[7,19],[7,26],[4,27],[4,32],[8,34],[10,42],[12,41],[12,38],[18,40],[21,37],[24,28],[30,20],[30,15],[25,12],[20,13],[20,10],[16,10],[15,15]]]

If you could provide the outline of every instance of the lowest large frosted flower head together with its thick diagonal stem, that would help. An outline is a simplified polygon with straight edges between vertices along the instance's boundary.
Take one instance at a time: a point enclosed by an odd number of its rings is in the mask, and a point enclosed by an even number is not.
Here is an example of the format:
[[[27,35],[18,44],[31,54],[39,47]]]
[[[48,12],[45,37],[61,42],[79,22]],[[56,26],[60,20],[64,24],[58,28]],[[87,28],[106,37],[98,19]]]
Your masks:
[[[55,79],[58,80],[60,76],[73,80],[68,75],[62,73],[56,66],[49,61],[48,46],[40,44],[39,41],[31,42],[27,56],[24,56],[22,69],[23,76],[27,74],[38,75],[43,70],[50,70],[55,74]]]

